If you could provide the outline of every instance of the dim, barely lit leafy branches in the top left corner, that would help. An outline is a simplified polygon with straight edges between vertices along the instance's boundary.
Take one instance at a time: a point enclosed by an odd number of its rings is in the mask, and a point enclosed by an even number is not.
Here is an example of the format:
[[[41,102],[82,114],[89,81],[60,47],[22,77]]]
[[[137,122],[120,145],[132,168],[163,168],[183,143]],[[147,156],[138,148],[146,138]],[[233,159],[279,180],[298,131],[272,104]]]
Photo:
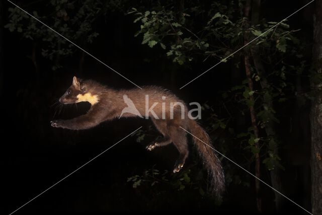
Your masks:
[[[123,7],[124,2],[126,1],[82,0],[69,2],[67,0],[51,0],[45,4],[45,7],[43,3],[38,6],[37,2],[26,6],[21,5],[21,7],[65,38],[86,49],[86,46],[93,43],[99,35],[97,29],[94,29],[97,19],[107,11]],[[41,7],[41,12],[34,10],[37,7]],[[73,44],[19,8],[14,7],[8,10],[10,20],[5,28],[11,32],[18,32],[23,38],[40,44],[41,55],[49,60],[54,60],[52,69],[60,67],[59,59],[61,57],[71,56],[77,49]]]

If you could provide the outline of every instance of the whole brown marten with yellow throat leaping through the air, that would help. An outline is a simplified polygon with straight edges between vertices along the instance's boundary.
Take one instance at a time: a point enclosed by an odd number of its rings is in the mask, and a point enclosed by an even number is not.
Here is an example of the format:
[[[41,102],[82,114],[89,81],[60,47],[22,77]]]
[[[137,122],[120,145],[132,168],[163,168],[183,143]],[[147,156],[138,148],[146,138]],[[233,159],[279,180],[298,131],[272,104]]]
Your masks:
[[[114,118],[135,116],[151,118],[156,129],[163,134],[163,139],[152,142],[146,149],[150,151],[173,143],[179,151],[174,173],[183,168],[189,154],[187,132],[184,129],[190,130],[207,145],[211,145],[207,132],[191,119],[192,117],[188,117],[185,103],[161,87],[144,86],[142,89],[116,90],[93,80],[73,77],[72,85],[60,97],[59,102],[63,104],[89,102],[91,108],[85,115],[73,119],[53,120],[51,121],[53,127],[81,130]],[[149,108],[149,104],[146,103],[153,105]],[[224,190],[224,173],[220,160],[211,148],[196,137],[193,136],[194,144],[211,176],[211,191],[220,194]]]

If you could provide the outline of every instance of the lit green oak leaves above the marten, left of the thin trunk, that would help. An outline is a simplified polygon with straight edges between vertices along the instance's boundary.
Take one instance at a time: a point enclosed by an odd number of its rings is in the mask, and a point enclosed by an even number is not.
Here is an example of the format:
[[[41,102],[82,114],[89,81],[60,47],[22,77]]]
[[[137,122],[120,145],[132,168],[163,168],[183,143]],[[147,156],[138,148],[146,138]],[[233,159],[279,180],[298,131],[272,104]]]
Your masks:
[[[136,19],[134,23],[140,22],[140,30],[135,34],[143,35],[142,44],[153,47],[159,44],[165,49],[167,56],[173,58],[174,62],[184,64],[193,60],[196,54],[221,59],[230,53],[229,47],[216,48],[214,42],[231,43],[238,40],[238,25],[229,20],[233,14],[229,2],[228,6],[223,6],[213,2],[210,10],[205,10],[205,5],[199,5],[198,2],[190,2],[191,7],[182,11],[176,11],[172,5],[157,5],[145,12],[139,12],[132,8],[128,14],[134,14]],[[219,13],[216,9],[221,8],[225,13]],[[203,13],[205,12],[205,13]],[[194,20],[204,17],[208,19],[203,26],[195,23]],[[203,18],[204,19],[204,18]],[[239,24],[240,25],[240,24]],[[194,31],[196,31],[194,33]]]

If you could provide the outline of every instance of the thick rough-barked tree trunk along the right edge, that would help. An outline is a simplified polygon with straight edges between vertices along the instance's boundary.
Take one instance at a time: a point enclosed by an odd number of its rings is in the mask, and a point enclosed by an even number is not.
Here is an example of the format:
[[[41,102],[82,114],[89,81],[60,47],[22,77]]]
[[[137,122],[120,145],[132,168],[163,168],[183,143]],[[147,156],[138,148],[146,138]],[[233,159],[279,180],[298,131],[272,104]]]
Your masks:
[[[322,76],[322,0],[315,1],[312,62],[314,77]],[[317,91],[312,102],[311,122],[311,201],[312,213],[322,214],[322,84],[321,79],[312,79],[312,88]],[[318,83],[316,83],[318,82]]]

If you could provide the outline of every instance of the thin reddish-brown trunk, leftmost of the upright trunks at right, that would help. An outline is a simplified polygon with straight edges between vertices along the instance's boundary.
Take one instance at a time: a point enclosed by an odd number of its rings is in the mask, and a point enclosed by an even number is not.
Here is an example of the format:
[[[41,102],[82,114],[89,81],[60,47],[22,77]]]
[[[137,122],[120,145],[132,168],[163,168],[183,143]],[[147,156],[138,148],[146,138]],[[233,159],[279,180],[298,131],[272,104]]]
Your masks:
[[[246,18],[249,18],[250,11],[251,11],[251,0],[247,0],[245,8],[244,8],[244,16]],[[250,26],[247,23],[247,24],[245,24],[245,27],[246,27],[246,30],[248,30],[248,28]],[[248,42],[249,42],[249,35],[247,33],[245,33],[244,34],[244,44],[247,44]],[[253,91],[254,88],[253,88],[253,80],[252,80],[250,55],[251,55],[250,50],[246,49],[246,51],[244,53],[245,71],[246,71],[249,89],[250,89],[250,91]],[[251,114],[252,126],[254,128],[254,135],[255,135],[255,138],[258,138],[259,137],[259,130],[257,127],[256,112],[254,109],[254,104],[255,104],[254,96],[250,95],[249,99],[250,99],[251,103],[253,104],[250,106],[250,114]],[[256,147],[257,151],[259,152],[260,147],[259,147],[258,142],[255,143],[255,147]],[[255,175],[257,178],[261,178],[260,165],[261,165],[260,155],[259,155],[259,153],[255,153]],[[257,179],[255,180],[255,188],[256,188],[257,209],[258,209],[258,211],[262,212],[262,198],[260,196],[261,184],[260,184],[260,181]]]

